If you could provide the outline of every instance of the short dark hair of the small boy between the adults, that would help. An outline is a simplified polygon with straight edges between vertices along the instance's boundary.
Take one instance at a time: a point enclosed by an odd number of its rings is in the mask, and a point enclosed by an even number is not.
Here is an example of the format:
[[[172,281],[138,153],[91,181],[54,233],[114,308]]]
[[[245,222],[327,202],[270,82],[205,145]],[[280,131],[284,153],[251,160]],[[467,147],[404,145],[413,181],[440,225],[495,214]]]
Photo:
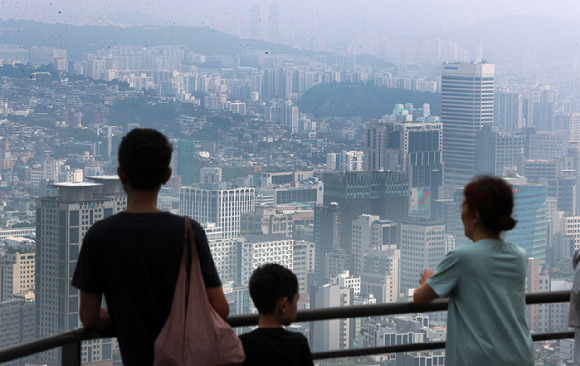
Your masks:
[[[271,314],[278,300],[294,300],[298,293],[298,279],[288,268],[267,263],[256,268],[250,277],[250,296],[260,314]]]

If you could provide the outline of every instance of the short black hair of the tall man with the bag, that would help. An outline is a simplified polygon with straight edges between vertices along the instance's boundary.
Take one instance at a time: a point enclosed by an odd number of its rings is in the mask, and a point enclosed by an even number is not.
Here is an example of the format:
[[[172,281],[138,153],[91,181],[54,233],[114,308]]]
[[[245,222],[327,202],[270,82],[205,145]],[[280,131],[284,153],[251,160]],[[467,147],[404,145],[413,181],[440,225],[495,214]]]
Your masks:
[[[172,153],[171,143],[161,132],[135,128],[123,137],[117,155],[129,185],[151,190],[161,186]]]

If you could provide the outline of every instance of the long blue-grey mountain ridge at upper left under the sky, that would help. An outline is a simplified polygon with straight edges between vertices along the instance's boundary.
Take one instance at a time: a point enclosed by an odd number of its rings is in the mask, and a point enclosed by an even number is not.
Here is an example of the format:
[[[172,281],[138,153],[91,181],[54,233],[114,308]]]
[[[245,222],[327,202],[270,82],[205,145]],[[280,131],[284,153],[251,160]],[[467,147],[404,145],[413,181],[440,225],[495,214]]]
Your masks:
[[[201,54],[235,55],[246,50],[300,53],[290,47],[238,38],[209,27],[189,26],[75,26],[27,20],[0,20],[0,44],[20,47],[54,46],[69,51],[69,58],[82,60],[83,52],[115,45],[180,45]]]

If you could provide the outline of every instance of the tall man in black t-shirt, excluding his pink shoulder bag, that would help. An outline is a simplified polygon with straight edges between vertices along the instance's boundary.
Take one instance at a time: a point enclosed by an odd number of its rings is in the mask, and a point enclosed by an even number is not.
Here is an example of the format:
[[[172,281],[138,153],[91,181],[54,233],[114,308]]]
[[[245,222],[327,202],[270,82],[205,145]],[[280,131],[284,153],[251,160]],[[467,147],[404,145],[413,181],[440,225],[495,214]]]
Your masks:
[[[117,173],[127,209],[95,223],[83,239],[72,280],[86,328],[115,329],[125,366],[153,365],[153,344],[167,320],[185,243],[185,220],[157,208],[171,176],[172,147],[152,129],[134,129],[119,145]],[[207,238],[192,220],[211,305],[229,313]],[[102,307],[105,296],[107,308]]]

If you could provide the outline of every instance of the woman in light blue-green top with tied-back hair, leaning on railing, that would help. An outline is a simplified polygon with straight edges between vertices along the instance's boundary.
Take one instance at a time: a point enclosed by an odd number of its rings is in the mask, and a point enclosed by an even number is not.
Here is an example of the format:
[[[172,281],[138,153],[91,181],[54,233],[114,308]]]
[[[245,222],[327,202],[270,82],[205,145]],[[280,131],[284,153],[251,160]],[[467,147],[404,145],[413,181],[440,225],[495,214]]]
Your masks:
[[[512,188],[479,176],[463,191],[461,221],[475,244],[450,251],[435,271],[421,273],[415,304],[449,297],[446,365],[533,366],[526,322],[526,252],[501,239],[515,227]]]

